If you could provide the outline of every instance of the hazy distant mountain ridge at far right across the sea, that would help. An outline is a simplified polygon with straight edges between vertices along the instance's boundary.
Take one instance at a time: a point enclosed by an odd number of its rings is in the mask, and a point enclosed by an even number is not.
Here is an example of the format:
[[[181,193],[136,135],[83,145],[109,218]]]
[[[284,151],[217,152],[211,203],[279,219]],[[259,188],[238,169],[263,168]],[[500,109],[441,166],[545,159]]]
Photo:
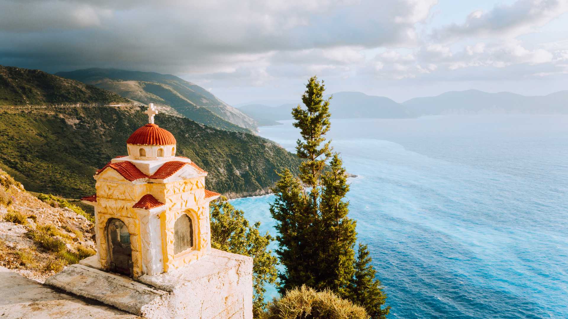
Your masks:
[[[509,92],[486,93],[478,90],[451,91],[437,96],[403,102],[408,114],[567,114],[568,91],[544,96],[524,96]]]

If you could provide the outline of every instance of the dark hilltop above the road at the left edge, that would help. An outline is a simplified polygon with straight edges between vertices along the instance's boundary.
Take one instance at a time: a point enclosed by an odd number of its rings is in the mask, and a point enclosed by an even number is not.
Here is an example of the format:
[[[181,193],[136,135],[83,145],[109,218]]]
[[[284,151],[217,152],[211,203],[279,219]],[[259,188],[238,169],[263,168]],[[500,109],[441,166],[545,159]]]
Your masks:
[[[0,106],[73,103],[127,103],[128,99],[79,81],[0,65]]]

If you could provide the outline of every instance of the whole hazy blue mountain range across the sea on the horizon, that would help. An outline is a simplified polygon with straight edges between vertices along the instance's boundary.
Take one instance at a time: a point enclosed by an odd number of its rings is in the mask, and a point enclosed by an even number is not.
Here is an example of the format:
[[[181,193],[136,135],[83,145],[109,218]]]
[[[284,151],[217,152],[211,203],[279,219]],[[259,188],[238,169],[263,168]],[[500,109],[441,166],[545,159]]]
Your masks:
[[[248,104],[240,110],[259,123],[265,123],[262,125],[272,125],[270,121],[292,119],[290,112],[296,105],[269,107]],[[544,96],[524,96],[509,92],[486,93],[478,90],[452,91],[437,96],[414,98],[403,103],[384,96],[339,92],[333,94],[329,111],[332,119],[400,119],[447,114],[568,114],[568,91]]]

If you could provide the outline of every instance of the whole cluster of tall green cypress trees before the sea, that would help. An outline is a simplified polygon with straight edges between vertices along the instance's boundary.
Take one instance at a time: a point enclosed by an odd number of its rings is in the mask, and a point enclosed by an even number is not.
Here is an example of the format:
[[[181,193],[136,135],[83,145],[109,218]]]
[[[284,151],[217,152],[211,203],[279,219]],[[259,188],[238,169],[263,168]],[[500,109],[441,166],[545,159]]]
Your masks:
[[[285,266],[279,273],[279,292],[302,285],[330,289],[370,307],[373,318],[381,318],[389,311],[381,309],[386,296],[380,282],[373,281],[375,270],[369,265],[366,246],[360,251],[361,258],[355,258],[356,221],[349,219],[349,202],[344,200],[349,191],[345,168],[339,154],[332,153],[330,141],[325,141],[331,124],[331,98],[323,99],[324,91],[323,81],[311,77],[302,95],[304,107],[292,110],[293,125],[302,137],[296,142],[296,154],[304,161],[298,177],[285,170],[272,188],[275,200],[270,213],[277,222],[276,253]]]

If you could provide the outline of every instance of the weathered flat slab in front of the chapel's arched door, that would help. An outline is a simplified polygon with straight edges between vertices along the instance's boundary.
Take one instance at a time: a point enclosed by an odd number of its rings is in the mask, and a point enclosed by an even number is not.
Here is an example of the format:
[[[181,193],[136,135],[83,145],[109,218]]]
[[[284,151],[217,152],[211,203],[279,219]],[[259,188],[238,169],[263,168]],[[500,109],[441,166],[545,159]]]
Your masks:
[[[161,308],[168,293],[135,282],[127,276],[111,274],[75,264],[49,277],[45,284],[95,299],[118,309],[141,315],[144,309]]]

